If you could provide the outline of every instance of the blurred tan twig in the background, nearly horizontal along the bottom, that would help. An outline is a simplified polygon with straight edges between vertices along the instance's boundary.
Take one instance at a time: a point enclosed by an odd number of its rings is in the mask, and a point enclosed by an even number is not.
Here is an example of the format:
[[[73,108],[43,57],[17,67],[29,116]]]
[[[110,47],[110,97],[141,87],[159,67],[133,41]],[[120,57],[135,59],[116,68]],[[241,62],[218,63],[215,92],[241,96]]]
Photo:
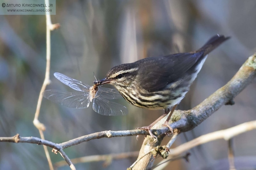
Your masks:
[[[116,153],[116,154],[112,153],[112,154],[106,154],[106,155],[84,156],[84,157],[80,157],[80,158],[71,159],[71,161],[74,164],[105,161],[103,166],[107,167],[112,162],[112,160],[133,158],[133,157],[137,157],[138,155],[139,155],[139,152],[134,151],[134,152],[124,152],[124,153]],[[60,166],[66,166],[66,165],[67,165],[67,163],[64,160],[62,160],[60,162],[57,162],[54,166],[60,167]]]

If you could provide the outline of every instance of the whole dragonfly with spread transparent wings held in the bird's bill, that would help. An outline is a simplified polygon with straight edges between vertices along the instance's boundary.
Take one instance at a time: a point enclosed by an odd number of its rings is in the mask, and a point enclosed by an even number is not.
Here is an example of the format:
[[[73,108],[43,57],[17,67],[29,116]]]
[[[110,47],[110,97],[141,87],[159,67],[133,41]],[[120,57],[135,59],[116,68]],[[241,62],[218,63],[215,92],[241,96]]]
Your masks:
[[[110,101],[122,98],[116,89],[99,87],[97,84],[89,86],[58,72],[53,75],[61,83],[79,92],[45,90],[43,96],[46,99],[70,108],[87,108],[92,102],[92,109],[100,115],[116,116],[128,113],[125,106]]]

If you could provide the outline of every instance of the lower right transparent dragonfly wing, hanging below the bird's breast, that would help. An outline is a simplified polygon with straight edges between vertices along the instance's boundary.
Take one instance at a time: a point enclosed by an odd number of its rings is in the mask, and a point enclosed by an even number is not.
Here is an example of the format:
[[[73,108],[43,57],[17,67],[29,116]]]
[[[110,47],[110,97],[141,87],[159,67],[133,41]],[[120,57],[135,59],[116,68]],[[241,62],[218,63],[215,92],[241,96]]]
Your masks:
[[[128,109],[125,106],[103,98],[102,95],[98,95],[98,92],[92,104],[95,112],[107,116],[126,115],[128,113]]]

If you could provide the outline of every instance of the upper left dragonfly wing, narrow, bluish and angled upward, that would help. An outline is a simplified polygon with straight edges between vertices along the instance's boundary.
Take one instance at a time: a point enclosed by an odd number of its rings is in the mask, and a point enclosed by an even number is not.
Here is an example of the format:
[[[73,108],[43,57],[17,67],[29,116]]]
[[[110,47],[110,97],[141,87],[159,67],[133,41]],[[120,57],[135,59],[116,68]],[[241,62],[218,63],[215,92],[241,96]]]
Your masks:
[[[64,74],[56,72],[53,75],[55,76],[55,78],[60,80],[61,83],[65,84],[65,85],[68,85],[70,88],[72,88],[74,90],[86,92],[90,88],[89,85],[86,85],[83,82],[78,81],[76,79],[70,78],[70,77],[68,77]]]

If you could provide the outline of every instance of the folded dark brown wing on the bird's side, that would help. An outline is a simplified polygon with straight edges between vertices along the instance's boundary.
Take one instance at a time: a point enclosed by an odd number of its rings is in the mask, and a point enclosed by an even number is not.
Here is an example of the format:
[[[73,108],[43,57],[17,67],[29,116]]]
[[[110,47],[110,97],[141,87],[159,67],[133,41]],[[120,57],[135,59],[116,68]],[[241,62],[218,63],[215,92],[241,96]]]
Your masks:
[[[162,89],[168,83],[180,78],[203,55],[204,50],[202,49],[196,53],[179,53],[164,57],[148,58],[145,62],[149,62],[150,64],[139,64],[140,76],[138,77],[138,81],[140,82],[140,86],[148,92]],[[143,68],[146,66],[150,68]]]

